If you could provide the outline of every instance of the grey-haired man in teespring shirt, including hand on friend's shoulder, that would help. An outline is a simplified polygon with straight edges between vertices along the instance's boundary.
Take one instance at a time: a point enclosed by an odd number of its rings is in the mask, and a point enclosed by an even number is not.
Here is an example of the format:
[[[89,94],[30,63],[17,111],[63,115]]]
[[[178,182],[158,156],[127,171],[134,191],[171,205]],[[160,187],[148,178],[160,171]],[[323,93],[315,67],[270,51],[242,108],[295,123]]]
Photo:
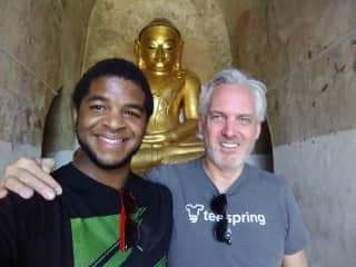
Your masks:
[[[266,106],[261,82],[237,70],[219,72],[200,96],[205,156],[146,175],[172,194],[170,267],[307,266],[306,231],[290,189],[284,179],[245,164]],[[29,159],[12,165],[4,180],[24,197],[31,188],[42,196],[58,188]]]

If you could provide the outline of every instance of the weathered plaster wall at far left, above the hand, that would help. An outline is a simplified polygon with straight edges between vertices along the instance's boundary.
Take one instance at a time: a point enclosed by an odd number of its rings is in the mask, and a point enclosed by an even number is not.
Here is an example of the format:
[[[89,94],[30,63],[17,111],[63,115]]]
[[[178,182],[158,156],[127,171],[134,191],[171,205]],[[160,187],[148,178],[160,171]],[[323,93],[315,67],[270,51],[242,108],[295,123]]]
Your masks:
[[[1,1],[1,175],[18,152],[41,152],[46,113],[59,80],[56,7],[57,1]]]

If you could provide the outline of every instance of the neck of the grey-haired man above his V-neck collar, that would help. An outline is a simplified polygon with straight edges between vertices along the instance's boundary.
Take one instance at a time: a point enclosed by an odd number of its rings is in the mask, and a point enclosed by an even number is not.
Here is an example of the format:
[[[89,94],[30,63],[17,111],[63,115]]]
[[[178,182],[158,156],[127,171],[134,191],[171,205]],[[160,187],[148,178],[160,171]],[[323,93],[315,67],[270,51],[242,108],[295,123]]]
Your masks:
[[[221,168],[214,164],[207,156],[202,158],[204,170],[220,194],[226,192],[229,187],[240,177],[244,165],[235,169]]]

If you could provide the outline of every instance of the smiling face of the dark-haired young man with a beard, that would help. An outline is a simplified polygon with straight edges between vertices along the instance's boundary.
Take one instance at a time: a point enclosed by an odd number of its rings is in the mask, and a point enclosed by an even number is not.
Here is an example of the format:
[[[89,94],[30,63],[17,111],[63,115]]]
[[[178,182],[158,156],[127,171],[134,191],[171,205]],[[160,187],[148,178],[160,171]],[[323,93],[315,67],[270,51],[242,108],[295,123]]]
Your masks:
[[[113,76],[91,81],[75,112],[78,141],[88,159],[101,169],[130,162],[145,135],[145,95],[135,82]]]

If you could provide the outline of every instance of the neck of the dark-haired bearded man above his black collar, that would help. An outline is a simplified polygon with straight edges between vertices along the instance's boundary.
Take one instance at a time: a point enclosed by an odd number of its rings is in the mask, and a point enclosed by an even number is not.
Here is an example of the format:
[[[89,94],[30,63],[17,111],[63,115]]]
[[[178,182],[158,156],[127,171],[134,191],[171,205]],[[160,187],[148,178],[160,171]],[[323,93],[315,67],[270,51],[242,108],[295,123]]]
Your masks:
[[[123,187],[130,172],[130,164],[117,169],[102,169],[83,152],[80,152],[75,158],[73,166],[96,181],[115,189]]]

